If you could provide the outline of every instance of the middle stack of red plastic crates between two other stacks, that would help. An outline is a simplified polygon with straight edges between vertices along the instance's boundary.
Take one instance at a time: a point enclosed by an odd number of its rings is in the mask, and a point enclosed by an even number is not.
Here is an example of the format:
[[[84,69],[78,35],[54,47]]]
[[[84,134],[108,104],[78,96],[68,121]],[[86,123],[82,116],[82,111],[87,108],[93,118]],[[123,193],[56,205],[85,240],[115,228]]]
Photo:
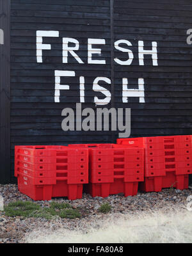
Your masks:
[[[143,148],[127,148],[115,144],[68,145],[89,148],[89,184],[85,191],[106,197],[118,193],[136,195],[138,182],[144,180]]]

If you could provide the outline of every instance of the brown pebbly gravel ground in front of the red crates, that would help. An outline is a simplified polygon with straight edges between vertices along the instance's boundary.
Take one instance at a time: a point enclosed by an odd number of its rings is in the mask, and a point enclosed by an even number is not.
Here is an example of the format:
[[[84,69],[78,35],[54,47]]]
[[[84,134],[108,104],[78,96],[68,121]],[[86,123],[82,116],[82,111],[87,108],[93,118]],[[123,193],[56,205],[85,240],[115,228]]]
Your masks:
[[[26,195],[23,195],[17,189],[17,185],[0,184],[0,194],[3,195],[4,205],[10,202],[15,202],[17,200],[22,201],[32,201]],[[186,207],[186,198],[192,195],[192,191],[189,189],[184,189],[180,191],[179,189],[163,189],[163,191],[156,193],[141,193],[138,192],[136,196],[124,195],[111,195],[108,198],[95,197],[92,198],[90,195],[83,194],[82,199],[78,200],[67,200],[66,198],[54,198],[51,201],[54,202],[68,202],[81,212],[82,218],[76,218],[75,220],[68,219],[56,219],[56,220],[45,220],[36,218],[20,218],[20,217],[8,217],[0,211],[0,243],[23,243],[23,238],[26,233],[33,231],[37,227],[52,228],[56,230],[60,225],[65,225],[69,230],[75,230],[81,224],[83,228],[83,223],[92,223],[93,220],[100,219],[104,220],[108,214],[103,214],[98,212],[100,205],[104,203],[109,203],[112,207],[111,213],[113,214],[127,214],[136,211],[150,211],[164,209],[167,207]],[[51,202],[49,201],[49,202]],[[49,205],[48,201],[37,201],[42,207]]]

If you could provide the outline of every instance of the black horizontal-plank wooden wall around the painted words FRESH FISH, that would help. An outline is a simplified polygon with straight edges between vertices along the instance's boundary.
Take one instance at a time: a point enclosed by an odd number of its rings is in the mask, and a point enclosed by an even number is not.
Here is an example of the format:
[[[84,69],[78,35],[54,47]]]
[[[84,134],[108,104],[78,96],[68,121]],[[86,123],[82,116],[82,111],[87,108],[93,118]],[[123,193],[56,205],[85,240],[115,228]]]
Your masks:
[[[82,108],[96,108],[93,92],[95,77],[109,77],[111,102],[97,108],[131,108],[131,136],[191,134],[192,128],[192,46],[186,31],[192,26],[191,0],[12,0],[11,1],[11,152],[12,181],[15,145],[66,145],[68,143],[110,143],[118,132],[68,131],[61,129],[63,108],[76,108],[79,101],[79,76],[85,79]],[[51,50],[43,51],[43,63],[36,62],[36,31],[59,31],[60,37],[44,38]],[[79,40],[77,54],[62,63],[62,37]],[[104,38],[106,45],[96,60],[106,65],[87,63],[88,38]],[[131,65],[119,65],[114,58],[127,60],[127,52],[113,47],[117,40],[128,40],[134,55]],[[145,49],[157,42],[158,66],[146,55],[139,65],[138,41]],[[76,77],[61,77],[70,90],[60,91],[54,102],[54,70],[74,70]],[[144,79],[145,103],[139,97],[122,102],[122,78],[129,88],[138,88]]]

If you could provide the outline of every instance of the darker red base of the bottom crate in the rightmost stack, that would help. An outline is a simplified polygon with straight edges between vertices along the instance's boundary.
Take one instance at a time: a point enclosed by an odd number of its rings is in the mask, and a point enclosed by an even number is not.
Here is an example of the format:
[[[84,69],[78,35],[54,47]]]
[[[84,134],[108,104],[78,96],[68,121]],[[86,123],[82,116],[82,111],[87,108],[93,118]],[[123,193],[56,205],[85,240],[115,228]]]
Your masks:
[[[176,175],[175,172],[168,172],[166,176],[145,177],[144,182],[140,182],[139,189],[145,192],[159,192],[163,188],[188,189],[189,175]]]

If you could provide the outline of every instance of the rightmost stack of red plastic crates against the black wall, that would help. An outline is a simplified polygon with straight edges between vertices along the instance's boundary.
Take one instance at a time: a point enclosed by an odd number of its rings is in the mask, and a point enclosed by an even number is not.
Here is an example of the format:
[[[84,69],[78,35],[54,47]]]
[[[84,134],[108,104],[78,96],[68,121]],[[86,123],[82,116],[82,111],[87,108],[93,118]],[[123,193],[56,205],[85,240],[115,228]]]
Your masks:
[[[162,188],[187,189],[192,173],[192,136],[118,139],[120,145],[145,148],[145,181],[142,191]]]

